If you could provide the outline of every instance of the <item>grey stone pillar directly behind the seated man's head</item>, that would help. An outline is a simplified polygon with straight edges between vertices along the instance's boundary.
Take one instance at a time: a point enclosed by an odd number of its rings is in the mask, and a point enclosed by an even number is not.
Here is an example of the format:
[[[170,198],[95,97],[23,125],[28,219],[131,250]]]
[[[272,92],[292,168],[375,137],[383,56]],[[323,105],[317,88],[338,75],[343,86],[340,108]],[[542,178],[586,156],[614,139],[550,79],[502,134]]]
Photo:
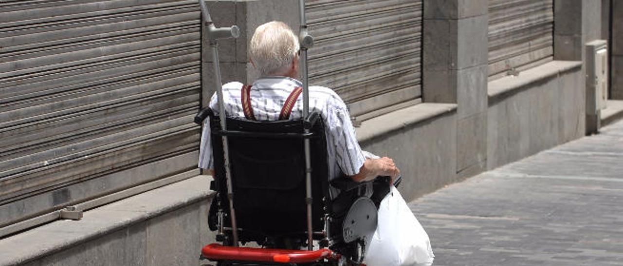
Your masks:
[[[237,25],[240,37],[219,41],[222,82],[240,81],[252,83],[259,76],[249,63],[247,48],[255,28],[270,21],[283,21],[290,25],[295,34],[300,27],[297,0],[207,0],[212,21],[217,27]],[[202,30],[202,34],[206,34]],[[206,106],[214,93],[214,66],[212,50],[202,42],[202,106]]]

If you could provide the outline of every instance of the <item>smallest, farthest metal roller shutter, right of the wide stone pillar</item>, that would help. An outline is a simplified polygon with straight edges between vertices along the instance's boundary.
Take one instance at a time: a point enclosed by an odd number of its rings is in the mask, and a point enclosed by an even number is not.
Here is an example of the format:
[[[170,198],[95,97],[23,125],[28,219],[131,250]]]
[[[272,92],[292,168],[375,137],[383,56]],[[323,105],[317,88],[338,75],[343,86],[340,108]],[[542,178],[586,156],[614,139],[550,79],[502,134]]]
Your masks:
[[[553,60],[553,0],[489,0],[489,78]]]

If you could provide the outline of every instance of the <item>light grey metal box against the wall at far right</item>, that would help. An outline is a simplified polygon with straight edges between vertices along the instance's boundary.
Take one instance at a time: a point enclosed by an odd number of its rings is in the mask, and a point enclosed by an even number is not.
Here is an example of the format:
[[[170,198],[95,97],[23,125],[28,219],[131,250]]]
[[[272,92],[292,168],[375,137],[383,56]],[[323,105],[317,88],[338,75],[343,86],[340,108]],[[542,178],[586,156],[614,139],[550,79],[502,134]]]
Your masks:
[[[608,99],[608,50],[606,40],[586,44],[586,114],[597,115]]]

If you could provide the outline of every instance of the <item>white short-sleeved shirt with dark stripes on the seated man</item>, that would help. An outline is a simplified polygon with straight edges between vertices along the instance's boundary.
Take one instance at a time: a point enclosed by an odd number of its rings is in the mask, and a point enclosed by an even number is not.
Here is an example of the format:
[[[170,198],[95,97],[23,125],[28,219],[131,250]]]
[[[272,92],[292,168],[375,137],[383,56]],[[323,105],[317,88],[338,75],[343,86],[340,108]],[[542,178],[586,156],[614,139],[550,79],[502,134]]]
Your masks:
[[[228,117],[245,118],[240,99],[242,86],[243,84],[239,82],[223,85],[225,111]],[[300,81],[283,76],[270,76],[256,80],[250,90],[251,106],[255,118],[258,121],[278,120],[283,103],[290,92],[300,86],[303,86]],[[310,86],[309,91],[310,112],[319,112],[325,122],[329,178],[342,177],[344,174],[356,175],[366,158],[355,137],[346,104],[329,88]],[[219,112],[216,93],[212,95],[210,108],[215,113]],[[292,108],[290,120],[302,119],[302,116],[303,96],[301,95]],[[214,168],[209,119],[204,121],[204,130],[201,135],[199,167]]]

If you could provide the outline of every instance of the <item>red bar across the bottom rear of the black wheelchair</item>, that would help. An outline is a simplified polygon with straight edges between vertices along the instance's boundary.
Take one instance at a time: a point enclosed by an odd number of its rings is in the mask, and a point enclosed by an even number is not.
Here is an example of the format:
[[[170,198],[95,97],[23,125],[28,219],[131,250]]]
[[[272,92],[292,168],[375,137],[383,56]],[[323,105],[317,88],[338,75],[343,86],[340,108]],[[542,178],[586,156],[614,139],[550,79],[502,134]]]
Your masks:
[[[239,260],[248,262],[305,263],[321,259],[337,259],[338,255],[330,249],[291,250],[260,249],[252,247],[229,247],[209,244],[201,249],[201,254],[211,260]]]

